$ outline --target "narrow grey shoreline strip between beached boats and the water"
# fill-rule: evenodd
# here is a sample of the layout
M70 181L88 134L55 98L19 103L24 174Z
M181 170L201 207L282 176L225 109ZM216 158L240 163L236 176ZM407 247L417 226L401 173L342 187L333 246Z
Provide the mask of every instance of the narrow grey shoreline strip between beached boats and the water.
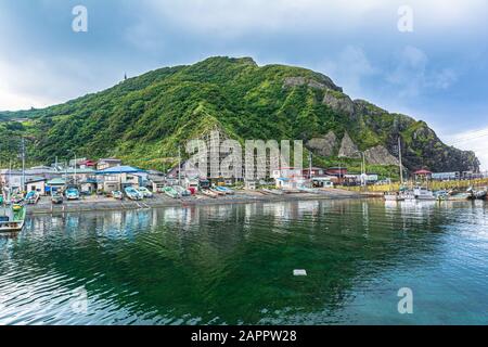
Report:
M90 213L90 211L111 211L111 210L133 210L150 209L162 207L188 207L188 206L206 206L206 205L224 205L224 204L249 204L249 203L273 203L290 201L307 201L307 200L349 200L349 198L368 198L370 194L359 194L344 190L328 190L321 194L310 193L292 193L284 195L262 194L259 192L239 192L235 195L219 196L209 198L206 196L190 196L182 198L170 198L166 195L156 194L152 198L143 201L115 201L106 197L88 197L80 201L63 202L61 205L52 205L50 201L41 201L37 205L27 205L27 215L50 215L60 213ZM46 197L43 197L46 200Z

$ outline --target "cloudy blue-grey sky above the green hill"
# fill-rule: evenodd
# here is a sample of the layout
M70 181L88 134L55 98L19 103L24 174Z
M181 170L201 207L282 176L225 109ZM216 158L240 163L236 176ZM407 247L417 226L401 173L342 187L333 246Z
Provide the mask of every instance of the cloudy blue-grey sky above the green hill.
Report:
M72 29L75 5L87 33ZM398 28L402 5L413 31ZM486 0L0 0L0 110L61 103L126 72L253 56L424 119L488 169L487 17Z

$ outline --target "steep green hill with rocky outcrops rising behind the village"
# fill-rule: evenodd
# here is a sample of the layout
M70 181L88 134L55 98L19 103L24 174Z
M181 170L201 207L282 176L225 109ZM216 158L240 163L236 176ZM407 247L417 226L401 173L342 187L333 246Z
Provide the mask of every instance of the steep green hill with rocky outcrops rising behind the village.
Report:
M479 166L474 153L447 146L424 121L352 101L322 74L258 66L248 57L165 67L61 105L0 113L0 162L16 158L25 136L30 163L52 163L74 150L162 168L175 160L179 143L215 127L239 140L301 139L317 165L337 165L341 155L358 167L359 150L370 167L386 170L400 136L408 169Z

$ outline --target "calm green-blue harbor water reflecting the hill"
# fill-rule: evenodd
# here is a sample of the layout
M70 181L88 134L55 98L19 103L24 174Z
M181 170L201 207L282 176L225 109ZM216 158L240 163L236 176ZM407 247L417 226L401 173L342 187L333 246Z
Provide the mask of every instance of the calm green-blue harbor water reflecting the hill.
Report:
M398 312L402 287L413 292L412 314ZM488 206L66 214L0 236L0 324L275 323L487 324Z

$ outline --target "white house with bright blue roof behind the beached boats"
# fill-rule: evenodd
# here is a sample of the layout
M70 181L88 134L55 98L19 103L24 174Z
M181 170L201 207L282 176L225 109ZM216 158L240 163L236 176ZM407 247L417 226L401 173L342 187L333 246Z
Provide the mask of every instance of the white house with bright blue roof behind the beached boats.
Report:
M147 172L131 166L115 166L97 171L99 189L104 192L120 191L126 187L145 187Z

